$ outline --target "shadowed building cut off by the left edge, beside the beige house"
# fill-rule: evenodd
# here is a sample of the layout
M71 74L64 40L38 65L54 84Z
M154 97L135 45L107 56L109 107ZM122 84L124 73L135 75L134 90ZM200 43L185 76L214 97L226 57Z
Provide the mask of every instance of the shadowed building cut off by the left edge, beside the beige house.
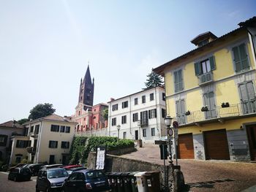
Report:
M15 120L0 124L0 161L8 162L11 152L11 137L24 135L24 128Z

